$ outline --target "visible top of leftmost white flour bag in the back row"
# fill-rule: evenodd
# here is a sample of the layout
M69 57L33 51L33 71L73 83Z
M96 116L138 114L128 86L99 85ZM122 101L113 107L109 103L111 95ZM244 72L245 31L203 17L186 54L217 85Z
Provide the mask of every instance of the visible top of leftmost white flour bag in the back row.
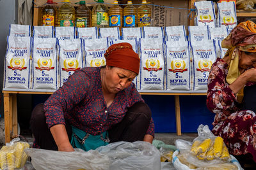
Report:
M10 24L9 36L30 36L30 25Z

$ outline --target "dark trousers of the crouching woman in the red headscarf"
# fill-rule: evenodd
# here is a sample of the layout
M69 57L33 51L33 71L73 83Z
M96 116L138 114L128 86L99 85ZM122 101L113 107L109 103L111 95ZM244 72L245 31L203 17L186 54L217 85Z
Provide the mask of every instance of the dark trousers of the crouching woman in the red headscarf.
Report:
M51 131L46 124L44 104L35 106L31 113L31 131L35 137L35 142L42 149L58 150L52 137ZM147 104L138 102L127 111L123 120L109 129L110 143L116 141L143 141L151 120L151 111ZM72 129L66 121L66 130L69 141L72 136Z

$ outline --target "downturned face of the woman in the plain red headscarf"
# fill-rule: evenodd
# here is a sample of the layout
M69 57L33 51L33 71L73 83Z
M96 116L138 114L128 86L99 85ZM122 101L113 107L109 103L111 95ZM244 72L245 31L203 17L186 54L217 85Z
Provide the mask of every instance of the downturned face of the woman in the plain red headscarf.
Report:
M131 85L132 80L136 77L136 73L119 67L106 66L106 75L104 85L110 93L117 93Z

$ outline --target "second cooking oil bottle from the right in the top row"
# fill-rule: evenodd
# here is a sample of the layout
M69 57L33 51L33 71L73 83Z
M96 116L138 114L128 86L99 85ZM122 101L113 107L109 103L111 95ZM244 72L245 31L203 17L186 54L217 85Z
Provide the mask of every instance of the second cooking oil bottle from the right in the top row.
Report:
M124 8L124 27L137 26L137 9L132 5L132 1L127 2Z

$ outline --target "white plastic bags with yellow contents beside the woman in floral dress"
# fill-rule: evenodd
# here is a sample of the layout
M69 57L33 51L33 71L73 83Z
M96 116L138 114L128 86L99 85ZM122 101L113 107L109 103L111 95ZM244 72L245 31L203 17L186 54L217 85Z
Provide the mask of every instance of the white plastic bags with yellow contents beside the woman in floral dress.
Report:
M228 153L223 139L214 136L207 125L198 127L198 137L193 143L178 139L173 153L176 169L242 169L235 157Z

